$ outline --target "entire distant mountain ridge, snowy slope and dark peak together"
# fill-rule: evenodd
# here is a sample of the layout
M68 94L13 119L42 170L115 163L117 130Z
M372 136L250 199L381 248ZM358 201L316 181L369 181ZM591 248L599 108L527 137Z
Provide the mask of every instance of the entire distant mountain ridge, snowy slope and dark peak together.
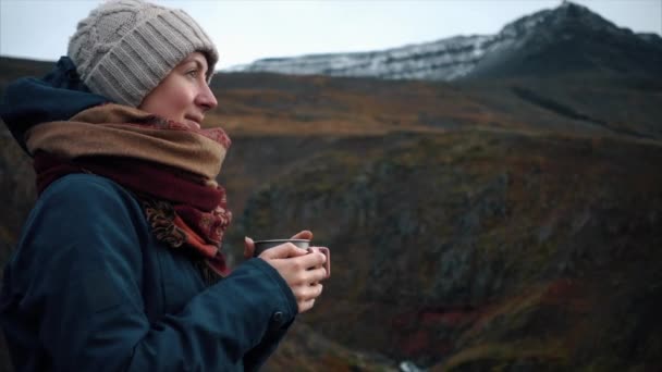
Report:
M634 34L566 1L497 35L456 36L383 51L270 58L235 72L454 80L561 72L662 75L662 38Z

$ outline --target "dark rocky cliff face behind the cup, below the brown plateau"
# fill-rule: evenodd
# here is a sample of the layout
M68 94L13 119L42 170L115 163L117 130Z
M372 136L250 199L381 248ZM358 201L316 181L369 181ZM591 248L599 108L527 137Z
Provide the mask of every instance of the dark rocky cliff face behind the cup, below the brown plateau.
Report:
M662 365L660 164L660 144L617 138L346 139L258 188L234 232L308 226L332 247L302 321L351 349L440 371L646 370Z

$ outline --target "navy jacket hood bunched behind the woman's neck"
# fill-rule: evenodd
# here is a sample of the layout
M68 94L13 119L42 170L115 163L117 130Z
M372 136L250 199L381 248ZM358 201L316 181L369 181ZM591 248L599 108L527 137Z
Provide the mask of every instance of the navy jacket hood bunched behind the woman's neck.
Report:
M91 94L81 80L76 66L62 57L42 78L22 77L11 83L0 103L0 117L27 152L25 133L35 125L65 121L108 98Z

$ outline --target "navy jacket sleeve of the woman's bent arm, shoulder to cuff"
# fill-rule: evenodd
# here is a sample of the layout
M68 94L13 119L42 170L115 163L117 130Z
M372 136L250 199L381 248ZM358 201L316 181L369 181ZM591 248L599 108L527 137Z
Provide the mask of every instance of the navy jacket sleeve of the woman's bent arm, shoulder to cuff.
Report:
M278 272L249 260L150 323L139 277L143 213L126 191L79 179L47 189L22 243L30 275L22 306L42 312L39 338L54 370L232 371L244 369L246 354L255 356L245 367L258 368L296 313Z

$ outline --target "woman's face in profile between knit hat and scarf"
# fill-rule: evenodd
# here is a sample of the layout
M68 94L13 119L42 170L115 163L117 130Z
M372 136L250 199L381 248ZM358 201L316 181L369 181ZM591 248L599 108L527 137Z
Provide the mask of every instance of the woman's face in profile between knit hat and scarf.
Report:
M149 92L138 109L200 128L205 112L218 102L207 85L207 59L193 52Z

